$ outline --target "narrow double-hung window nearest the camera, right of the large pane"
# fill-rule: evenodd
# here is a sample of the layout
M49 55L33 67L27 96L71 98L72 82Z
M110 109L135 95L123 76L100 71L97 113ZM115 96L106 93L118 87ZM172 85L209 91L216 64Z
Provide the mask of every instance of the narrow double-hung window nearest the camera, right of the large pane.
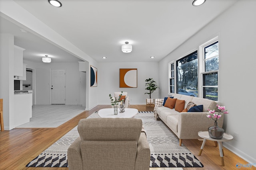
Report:
M209 43L201 46L204 54L202 98L218 101L219 43Z

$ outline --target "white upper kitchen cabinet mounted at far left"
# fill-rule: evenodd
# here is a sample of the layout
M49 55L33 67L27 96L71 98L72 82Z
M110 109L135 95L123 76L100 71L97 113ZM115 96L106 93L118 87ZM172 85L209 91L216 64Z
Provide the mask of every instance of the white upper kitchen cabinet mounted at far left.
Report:
M14 76L23 76L23 51L25 49L14 45ZM15 78L14 78L15 79Z

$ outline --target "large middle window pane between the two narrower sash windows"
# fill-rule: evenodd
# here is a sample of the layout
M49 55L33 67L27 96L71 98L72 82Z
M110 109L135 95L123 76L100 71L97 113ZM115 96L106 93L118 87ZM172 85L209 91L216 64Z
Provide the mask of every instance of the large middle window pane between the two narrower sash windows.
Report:
M187 96L197 96L197 91L187 92L198 87L198 57L197 51L176 61L176 91Z

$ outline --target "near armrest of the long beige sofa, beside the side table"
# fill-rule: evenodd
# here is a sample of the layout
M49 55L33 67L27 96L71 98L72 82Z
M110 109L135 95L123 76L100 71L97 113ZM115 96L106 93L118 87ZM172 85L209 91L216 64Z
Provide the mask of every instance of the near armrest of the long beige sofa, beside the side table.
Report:
M208 112L186 112L178 116L178 138L200 139L199 131L208 131L208 127L214 125L214 121L206 117ZM218 126L222 127L224 115L218 119Z

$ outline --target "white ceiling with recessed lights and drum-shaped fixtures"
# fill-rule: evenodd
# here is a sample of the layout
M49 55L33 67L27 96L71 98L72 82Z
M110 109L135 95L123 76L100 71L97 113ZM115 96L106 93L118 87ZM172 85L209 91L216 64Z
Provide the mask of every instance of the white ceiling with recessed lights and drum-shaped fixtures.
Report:
M98 62L150 62L166 57L237 0L206 0L198 7L193 0L59 1L61 8L48 0L14 0ZM0 18L0 33L14 35L14 44L26 49L24 60L42 62L49 55L52 62L81 61L21 28ZM131 53L122 53L125 41L132 45Z

